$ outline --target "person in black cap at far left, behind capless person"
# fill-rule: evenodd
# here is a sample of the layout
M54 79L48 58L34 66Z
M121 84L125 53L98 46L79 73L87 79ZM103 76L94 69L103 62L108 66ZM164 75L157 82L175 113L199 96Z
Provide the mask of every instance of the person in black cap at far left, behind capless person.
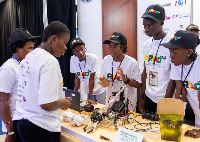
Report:
M2 131L7 132L6 141L14 141L12 118L15 111L19 64L33 50L34 40L40 36L32 36L27 29L17 28L9 37L9 49L12 58L0 67L0 116L3 120Z

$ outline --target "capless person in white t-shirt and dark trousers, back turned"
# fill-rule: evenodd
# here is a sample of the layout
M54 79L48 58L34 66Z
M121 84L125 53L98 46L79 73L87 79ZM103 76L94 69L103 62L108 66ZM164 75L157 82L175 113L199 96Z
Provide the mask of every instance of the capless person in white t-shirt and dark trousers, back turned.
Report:
M63 78L55 57L65 54L69 38L66 25L51 22L43 31L39 47L20 63L13 116L18 141L60 141L60 109L67 109L70 102L63 94Z

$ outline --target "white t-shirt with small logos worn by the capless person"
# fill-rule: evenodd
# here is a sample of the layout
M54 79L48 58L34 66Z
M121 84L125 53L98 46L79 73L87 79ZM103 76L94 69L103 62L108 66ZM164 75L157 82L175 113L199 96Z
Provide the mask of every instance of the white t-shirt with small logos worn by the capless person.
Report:
M40 105L63 99L62 92L63 80L57 59L36 48L20 63L13 120L28 119L48 131L60 132L60 109L46 111Z

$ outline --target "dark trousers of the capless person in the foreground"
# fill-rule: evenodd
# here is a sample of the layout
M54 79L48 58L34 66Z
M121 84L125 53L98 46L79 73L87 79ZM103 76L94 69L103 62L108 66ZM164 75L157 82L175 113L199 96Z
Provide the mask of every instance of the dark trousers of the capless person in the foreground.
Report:
M13 121L17 142L60 142L60 132L50 132L27 119Z

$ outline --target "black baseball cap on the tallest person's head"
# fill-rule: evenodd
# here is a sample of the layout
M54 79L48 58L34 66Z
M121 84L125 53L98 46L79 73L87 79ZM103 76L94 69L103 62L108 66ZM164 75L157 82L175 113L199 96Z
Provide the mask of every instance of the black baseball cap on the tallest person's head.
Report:
M165 20L165 9L159 4L150 5L145 13L142 15L142 18L150 18L157 23Z

